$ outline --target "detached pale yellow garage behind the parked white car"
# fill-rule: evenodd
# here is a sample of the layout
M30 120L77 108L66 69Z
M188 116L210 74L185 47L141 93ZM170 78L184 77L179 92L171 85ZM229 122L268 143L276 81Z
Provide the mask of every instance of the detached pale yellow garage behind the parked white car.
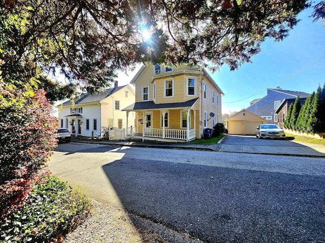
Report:
M255 135L256 127L265 124L265 119L245 109L225 121L229 134Z

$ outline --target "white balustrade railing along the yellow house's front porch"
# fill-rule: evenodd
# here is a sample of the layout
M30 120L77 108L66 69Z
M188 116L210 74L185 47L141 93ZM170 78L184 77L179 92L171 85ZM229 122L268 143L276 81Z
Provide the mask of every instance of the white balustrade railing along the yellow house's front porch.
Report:
M165 129L164 131L161 128L146 128L144 131L145 137L154 137L154 138L169 138L169 139L180 139L187 140L187 130L184 129ZM195 138L195 129L189 130L188 140Z

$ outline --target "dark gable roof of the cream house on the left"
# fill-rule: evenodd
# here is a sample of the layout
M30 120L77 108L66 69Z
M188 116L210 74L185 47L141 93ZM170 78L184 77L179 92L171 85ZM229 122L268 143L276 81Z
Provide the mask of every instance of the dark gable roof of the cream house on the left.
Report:
M87 104L87 103L94 103L94 102L100 102L101 100L104 100L105 98L111 96L112 94L120 91L121 89L127 87L128 85L120 86L120 87L114 87L110 89L106 89L105 91L102 91L98 94L83 94L81 97L74 102L74 104ZM131 88L132 89L132 88ZM71 100L68 100L64 102L62 105L72 105L73 102Z

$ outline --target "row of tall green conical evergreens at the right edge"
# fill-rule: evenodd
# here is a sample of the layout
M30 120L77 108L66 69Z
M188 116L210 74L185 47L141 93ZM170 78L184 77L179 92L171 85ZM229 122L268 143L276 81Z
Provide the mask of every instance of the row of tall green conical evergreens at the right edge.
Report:
M317 92L308 96L305 104L301 107L300 97L288 109L284 128L303 133L325 132L325 84L320 86Z

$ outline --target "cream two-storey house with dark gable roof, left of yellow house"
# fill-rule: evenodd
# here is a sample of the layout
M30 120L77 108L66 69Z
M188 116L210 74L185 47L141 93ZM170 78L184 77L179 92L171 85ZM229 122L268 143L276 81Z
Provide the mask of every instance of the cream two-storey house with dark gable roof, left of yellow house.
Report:
M106 128L126 129L135 126L135 112L126 120L123 108L135 102L135 91L130 85L106 89L98 94L83 94L57 106L58 126L76 136L103 137Z

